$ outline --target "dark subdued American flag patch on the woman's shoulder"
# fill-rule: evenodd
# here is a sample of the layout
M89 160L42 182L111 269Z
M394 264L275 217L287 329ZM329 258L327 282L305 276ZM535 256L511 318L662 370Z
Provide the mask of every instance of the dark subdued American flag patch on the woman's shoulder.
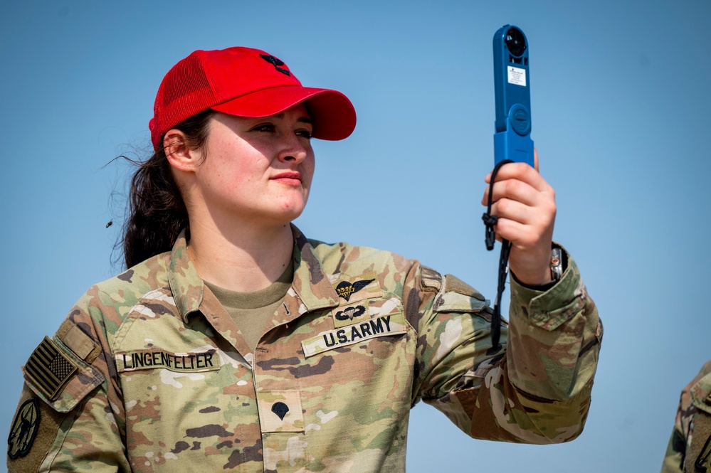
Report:
M25 365L25 376L49 400L56 398L65 383L77 371L78 368L73 361L48 337L44 337Z

